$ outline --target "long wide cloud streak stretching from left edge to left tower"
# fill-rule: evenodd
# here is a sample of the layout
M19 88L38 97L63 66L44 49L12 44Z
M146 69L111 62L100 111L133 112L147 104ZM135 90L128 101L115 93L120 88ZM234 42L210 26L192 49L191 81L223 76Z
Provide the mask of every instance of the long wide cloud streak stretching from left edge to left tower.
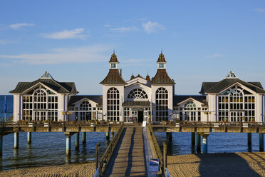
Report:
M46 54L0 55L0 60L11 59L11 63L22 64L76 64L108 61L110 56L105 54L112 47L106 45L80 46L73 48L53 49Z

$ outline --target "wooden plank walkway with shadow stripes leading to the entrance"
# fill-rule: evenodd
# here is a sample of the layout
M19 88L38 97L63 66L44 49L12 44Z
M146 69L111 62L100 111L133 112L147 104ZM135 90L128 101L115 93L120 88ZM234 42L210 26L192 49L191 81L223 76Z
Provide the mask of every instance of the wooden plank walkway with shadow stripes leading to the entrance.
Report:
M127 127L103 176L147 176L142 127Z

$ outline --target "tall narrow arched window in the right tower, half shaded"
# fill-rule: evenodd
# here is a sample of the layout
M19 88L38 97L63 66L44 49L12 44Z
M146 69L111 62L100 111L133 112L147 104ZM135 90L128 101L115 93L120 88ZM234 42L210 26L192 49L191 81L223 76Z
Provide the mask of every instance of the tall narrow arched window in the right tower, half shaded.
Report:
M160 87L155 93L156 121L168 120L168 92Z

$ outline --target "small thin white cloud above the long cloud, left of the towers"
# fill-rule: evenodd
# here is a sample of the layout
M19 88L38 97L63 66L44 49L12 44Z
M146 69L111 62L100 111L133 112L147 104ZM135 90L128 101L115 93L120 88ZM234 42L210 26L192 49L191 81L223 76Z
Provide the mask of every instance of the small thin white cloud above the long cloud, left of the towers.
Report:
M48 39L86 39L88 35L83 34L84 29L63 30L52 34L44 34Z

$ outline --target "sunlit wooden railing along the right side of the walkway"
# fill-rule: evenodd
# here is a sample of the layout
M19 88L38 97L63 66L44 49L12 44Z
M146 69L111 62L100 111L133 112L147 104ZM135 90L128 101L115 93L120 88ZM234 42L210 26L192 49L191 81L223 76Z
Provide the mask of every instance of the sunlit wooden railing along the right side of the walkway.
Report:
M152 155L153 155L153 157L159 159L160 173L163 174L164 173L164 159L163 159L163 155L162 155L160 146L157 143L157 138L155 137L155 133L152 130L152 126L150 124L148 124L147 128L148 128L148 131L147 131L148 132L148 138L150 140L152 148L154 148L152 151Z

